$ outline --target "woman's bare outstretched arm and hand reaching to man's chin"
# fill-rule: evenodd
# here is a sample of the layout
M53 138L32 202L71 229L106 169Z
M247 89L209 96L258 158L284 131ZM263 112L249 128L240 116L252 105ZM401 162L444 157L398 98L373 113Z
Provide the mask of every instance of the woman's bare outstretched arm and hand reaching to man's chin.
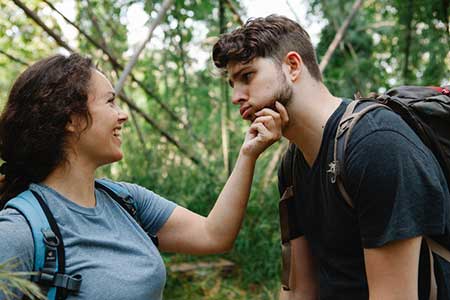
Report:
M263 109L250 126L236 165L207 217L183 207L175 208L158 232L162 251L212 254L230 250L244 218L256 159L281 138L288 122L285 108Z

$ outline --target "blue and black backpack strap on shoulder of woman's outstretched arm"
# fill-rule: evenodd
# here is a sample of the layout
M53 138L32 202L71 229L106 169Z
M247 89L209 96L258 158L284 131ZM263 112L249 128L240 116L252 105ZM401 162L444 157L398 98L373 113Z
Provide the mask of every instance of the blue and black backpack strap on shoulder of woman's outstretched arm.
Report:
M137 214L136 209L136 203L133 199L133 197L125 191L121 186L119 186L116 183L104 180L104 179L97 179L95 180L95 187L99 188L103 191L105 191L111 198L114 199L119 205L125 209L128 214L139 224L139 226L142 227L142 223L139 219L139 216ZM151 235L147 232L147 235L152 240L153 244L155 244L156 247L159 245L159 240L157 236Z

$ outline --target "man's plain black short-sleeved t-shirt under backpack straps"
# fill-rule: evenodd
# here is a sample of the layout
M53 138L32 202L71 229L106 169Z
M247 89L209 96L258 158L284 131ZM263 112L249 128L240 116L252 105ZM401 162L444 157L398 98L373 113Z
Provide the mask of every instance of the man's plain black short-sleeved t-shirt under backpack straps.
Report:
M289 203L290 237L304 235L319 268L321 299L368 299L363 248L420 235L434 237L450 249L450 196L434 155L395 113L377 109L355 126L345 158L345 182L354 208L331 183L336 128L348 101L327 121L322 144L310 168L291 145L293 166L279 169L282 194L292 184ZM289 174L289 175L288 175ZM422 247L420 299L427 298L429 265ZM450 264L436 257L438 299L450 299ZM427 298L428 299L428 298Z

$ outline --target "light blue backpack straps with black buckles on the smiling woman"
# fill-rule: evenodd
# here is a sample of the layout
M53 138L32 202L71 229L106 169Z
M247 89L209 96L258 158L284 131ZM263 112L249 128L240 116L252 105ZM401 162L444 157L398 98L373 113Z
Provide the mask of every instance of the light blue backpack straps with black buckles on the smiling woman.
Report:
M96 179L95 187L105 191L140 225L136 203L125 188L105 179ZM42 197L35 191L26 190L9 200L5 208L20 212L30 226L35 272L31 281L45 289L49 300L66 299L69 293L76 295L80 291L82 277L79 274L66 274L64 242L58 224ZM149 236L158 246L157 237Z

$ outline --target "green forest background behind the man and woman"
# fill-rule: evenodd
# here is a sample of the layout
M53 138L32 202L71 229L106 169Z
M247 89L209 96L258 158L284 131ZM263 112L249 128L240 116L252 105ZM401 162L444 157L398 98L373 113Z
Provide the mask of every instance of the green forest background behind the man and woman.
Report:
M448 0L288 1L305 2L306 16L325 24L315 46L334 95L450 84ZM143 22L133 24L134 15ZM245 15L239 0L0 0L0 105L33 62L55 53L90 56L121 91L129 115L124 159L98 176L137 183L207 215L249 126L231 103L211 50ZM306 30L313 25L308 17L297 21ZM287 145L282 140L258 159L230 253L163 254L165 299L278 299L277 167ZM226 272L216 266L223 259L232 263ZM181 263L194 270L178 270ZM0 288L7 288L5 276L11 274L2 270ZM17 280L11 284L23 284Z

